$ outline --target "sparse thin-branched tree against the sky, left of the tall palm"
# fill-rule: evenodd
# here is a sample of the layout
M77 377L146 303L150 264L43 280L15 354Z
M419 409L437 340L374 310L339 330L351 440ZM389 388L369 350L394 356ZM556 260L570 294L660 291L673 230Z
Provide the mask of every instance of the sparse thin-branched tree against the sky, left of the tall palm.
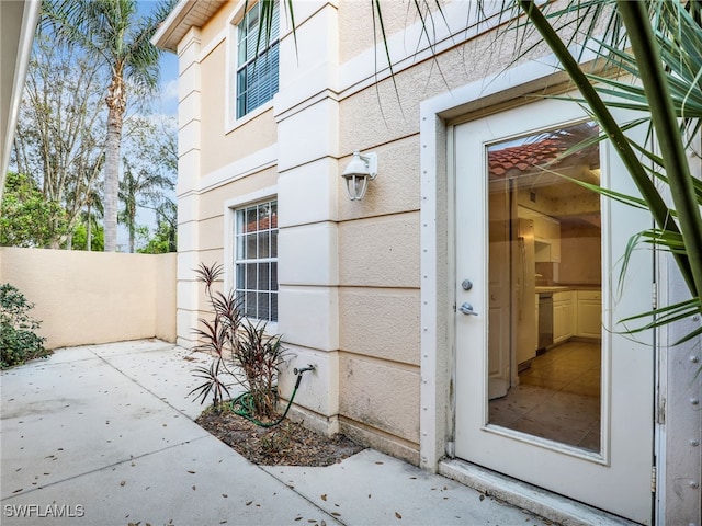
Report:
M36 35L20 106L14 163L32 174L47 203L60 205L43 218L58 248L78 222L100 178L104 159L99 128L104 125L105 79L76 47ZM55 209L54 205L50 205ZM68 228L63 227L68 221Z

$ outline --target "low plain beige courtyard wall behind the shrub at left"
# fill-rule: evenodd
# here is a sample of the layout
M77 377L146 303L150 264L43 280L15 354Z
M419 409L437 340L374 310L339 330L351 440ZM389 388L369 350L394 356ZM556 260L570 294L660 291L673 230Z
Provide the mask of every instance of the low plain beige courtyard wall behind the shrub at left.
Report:
M176 254L0 248L0 283L35 305L47 348L176 341Z

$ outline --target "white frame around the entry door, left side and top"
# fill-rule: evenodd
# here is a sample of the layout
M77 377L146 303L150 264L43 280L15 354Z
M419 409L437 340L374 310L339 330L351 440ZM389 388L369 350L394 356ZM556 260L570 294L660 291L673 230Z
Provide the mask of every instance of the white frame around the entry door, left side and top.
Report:
M460 115L477 118L503 111L531 93L565 91L567 77L555 64L553 56L528 62L424 101L420 107L420 466L431 471L454 453L454 227L453 192L448 187L453 167L446 123ZM665 444L656 442L657 458L665 458L664 449ZM663 483L658 481L658 491L665 492Z

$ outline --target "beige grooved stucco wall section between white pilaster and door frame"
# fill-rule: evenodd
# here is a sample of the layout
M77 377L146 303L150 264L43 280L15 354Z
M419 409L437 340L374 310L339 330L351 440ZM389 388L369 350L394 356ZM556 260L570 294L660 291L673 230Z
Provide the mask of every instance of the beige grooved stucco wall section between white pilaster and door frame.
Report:
M373 60L369 49L376 44L378 64L385 61L371 10L365 2L339 3L342 79L353 77L352 70L359 75L361 60ZM404 41L408 57L418 48L416 34L405 33L417 22L414 13L401 2L383 4L387 34L396 37L390 46L397 52ZM440 16L433 22L443 24ZM383 80L375 82L374 71L365 71L358 84L340 87L339 170L354 150L378 156L378 175L362 202L349 201L338 179L342 428L415 462L421 379L420 104L500 71L514 50L511 39L498 39L496 33L454 42L435 57L396 64L394 79L380 71Z

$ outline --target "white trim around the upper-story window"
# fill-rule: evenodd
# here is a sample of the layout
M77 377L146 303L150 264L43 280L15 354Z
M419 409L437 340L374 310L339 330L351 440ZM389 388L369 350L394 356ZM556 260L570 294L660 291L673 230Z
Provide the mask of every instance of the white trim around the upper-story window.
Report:
M227 19L226 26L226 36L225 36L225 87L224 87L224 108L225 108L225 119L224 119L224 133L229 134L235 129L244 126L250 121L253 121L259 115L268 112L273 107L273 101L275 100L275 95L264 104L261 104L259 107L250 111L242 117L237 118L237 104L236 104L236 91L237 91L237 66L235 58L237 57L237 46L238 46L238 28L237 25L244 20L244 8L247 5L248 0L240 1L237 7L234 9L229 18ZM249 2L251 4L252 2ZM280 45L280 44L279 44ZM280 66L279 66L280 68ZM280 75L280 72L279 72ZM230 96L231 93L235 93L235 96Z

